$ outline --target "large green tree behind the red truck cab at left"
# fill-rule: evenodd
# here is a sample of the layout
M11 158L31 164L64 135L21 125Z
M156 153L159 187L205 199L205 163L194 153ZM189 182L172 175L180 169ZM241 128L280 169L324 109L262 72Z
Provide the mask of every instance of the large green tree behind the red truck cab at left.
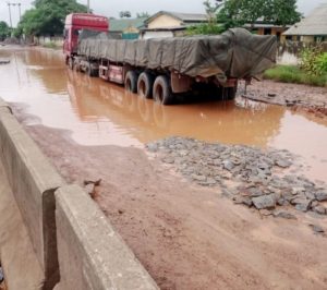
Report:
M19 28L26 35L62 34L65 16L73 12L87 12L76 0L36 0L34 9L22 16Z

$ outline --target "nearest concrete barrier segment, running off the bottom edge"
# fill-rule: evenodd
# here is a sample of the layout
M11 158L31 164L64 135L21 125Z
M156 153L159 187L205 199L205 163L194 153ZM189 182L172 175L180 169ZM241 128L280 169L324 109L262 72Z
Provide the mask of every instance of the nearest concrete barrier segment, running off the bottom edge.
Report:
M60 283L63 289L158 289L122 238L77 185L56 192Z

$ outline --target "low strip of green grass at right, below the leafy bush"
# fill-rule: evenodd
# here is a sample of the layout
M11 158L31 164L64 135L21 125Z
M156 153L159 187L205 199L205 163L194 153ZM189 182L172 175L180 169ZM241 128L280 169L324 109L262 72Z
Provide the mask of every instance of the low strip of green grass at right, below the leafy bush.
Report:
M327 73L323 75L311 75L295 65L276 65L264 73L264 78L282 83L327 86Z

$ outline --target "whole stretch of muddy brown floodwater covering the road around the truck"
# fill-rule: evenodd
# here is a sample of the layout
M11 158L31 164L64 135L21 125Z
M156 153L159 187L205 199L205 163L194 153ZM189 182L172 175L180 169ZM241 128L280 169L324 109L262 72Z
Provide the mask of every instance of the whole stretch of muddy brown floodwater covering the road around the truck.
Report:
M0 97L27 105L29 124L65 129L82 145L143 146L171 135L289 149L326 181L327 121L237 99L162 107L121 86L72 72L60 51L1 47Z

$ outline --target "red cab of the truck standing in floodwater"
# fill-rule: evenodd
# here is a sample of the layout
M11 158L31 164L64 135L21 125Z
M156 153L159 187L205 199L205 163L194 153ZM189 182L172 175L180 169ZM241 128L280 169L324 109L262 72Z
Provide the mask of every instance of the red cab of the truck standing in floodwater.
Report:
M72 13L66 15L63 33L63 53L65 55L66 63L77 52L78 35L82 29L108 32L108 19L88 13Z

